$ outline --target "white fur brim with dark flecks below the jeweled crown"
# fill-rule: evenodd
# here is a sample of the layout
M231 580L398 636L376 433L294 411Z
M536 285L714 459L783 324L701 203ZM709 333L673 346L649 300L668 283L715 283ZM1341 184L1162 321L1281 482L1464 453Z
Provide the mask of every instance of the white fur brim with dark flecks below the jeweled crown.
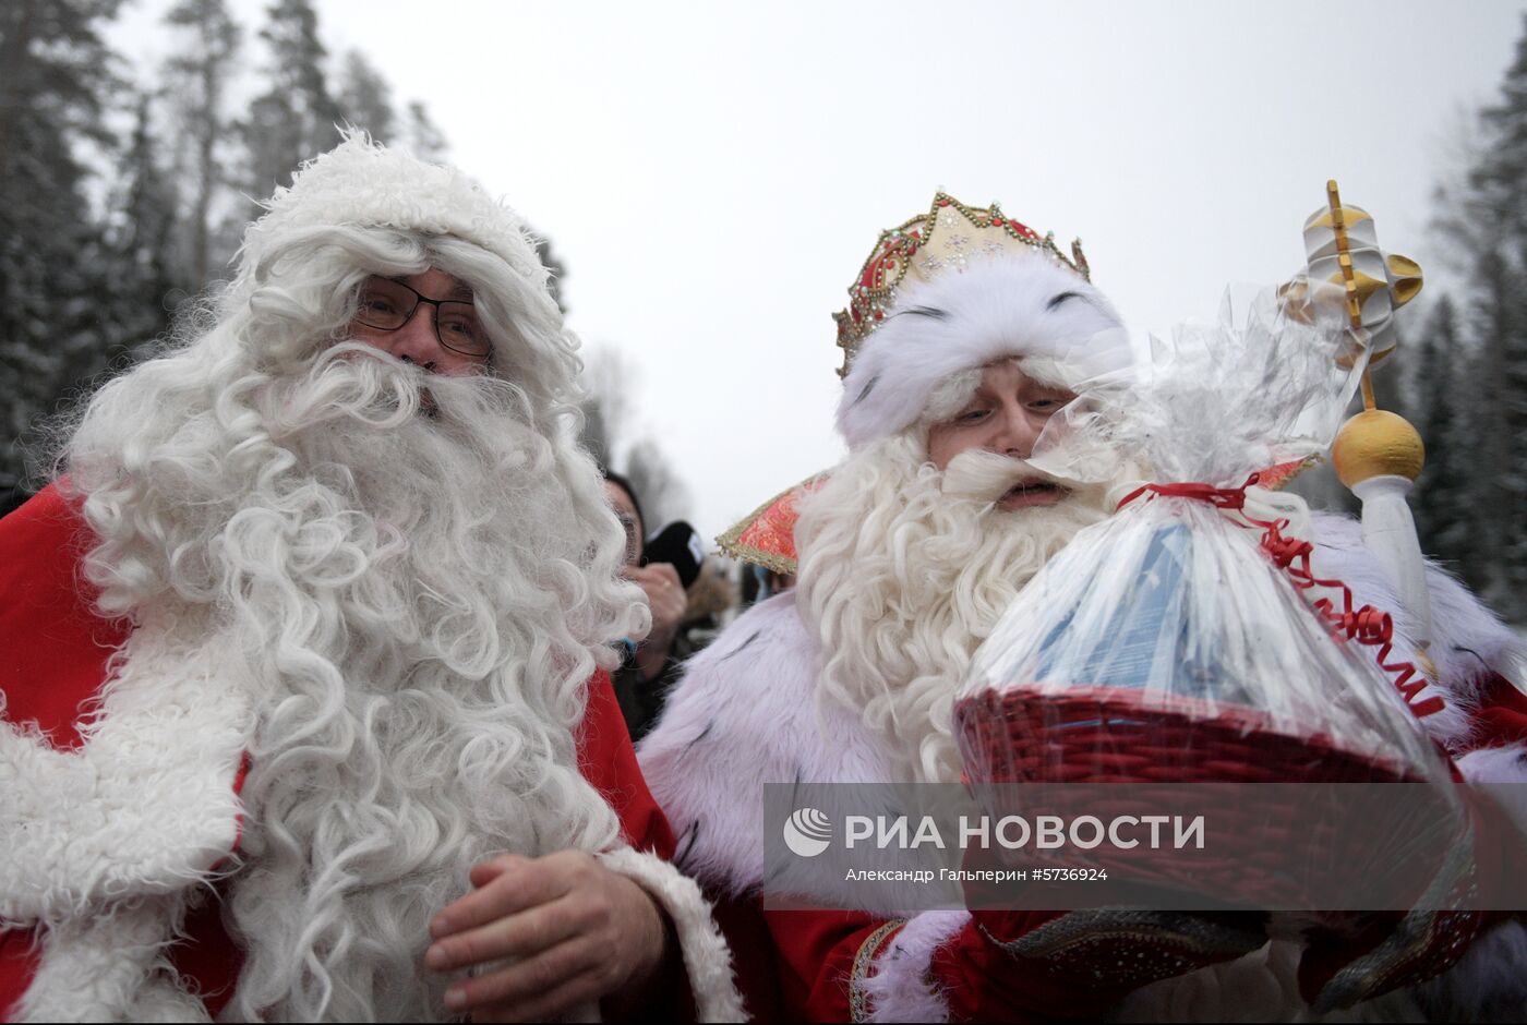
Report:
M1051 309L1067 292L1078 298ZM1130 347L1109 301L1070 270L1028 254L977 260L902 292L843 380L838 431L854 451L890 437L922 415L942 380L1005 356L1031 357L1031 376L1073 386L1127 365Z

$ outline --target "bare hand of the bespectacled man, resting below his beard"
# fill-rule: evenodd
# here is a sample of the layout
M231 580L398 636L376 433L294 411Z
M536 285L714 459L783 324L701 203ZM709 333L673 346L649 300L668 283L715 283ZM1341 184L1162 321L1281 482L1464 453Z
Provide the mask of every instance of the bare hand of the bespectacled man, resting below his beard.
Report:
M667 932L644 889L580 851L501 854L472 869L470 894L435 915L425 964L454 972L446 1008L473 1020L534 1022L635 990L663 964Z

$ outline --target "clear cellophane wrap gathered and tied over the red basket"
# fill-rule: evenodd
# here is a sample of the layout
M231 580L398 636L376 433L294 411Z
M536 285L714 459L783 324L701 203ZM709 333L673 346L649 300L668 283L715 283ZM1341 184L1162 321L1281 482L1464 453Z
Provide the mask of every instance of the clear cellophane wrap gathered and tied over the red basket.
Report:
M1031 461L1081 481L1133 461L1148 483L1235 490L1327 445L1359 370L1338 365L1341 344L1269 299L1228 304L1219 324L1179 328L1132 374L1084 388ZM1277 501L1228 512L1144 492L1078 533L973 658L954 716L970 782L1008 805L1020 797L1002 787L1031 782L1403 779L1451 800L1446 764L1374 651L1335 639L1263 550L1251 519L1307 530L1298 500Z

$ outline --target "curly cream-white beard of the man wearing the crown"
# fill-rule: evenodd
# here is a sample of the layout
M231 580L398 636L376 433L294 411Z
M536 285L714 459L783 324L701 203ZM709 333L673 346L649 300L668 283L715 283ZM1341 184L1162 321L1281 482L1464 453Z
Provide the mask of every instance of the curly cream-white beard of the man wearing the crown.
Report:
M971 655L1019 590L1104 518L1102 487L996 507L1023 463L962 454L939 472L912 432L851 457L802 503L797 588L823 652L818 694L861 715L899 779L954 782L951 718Z

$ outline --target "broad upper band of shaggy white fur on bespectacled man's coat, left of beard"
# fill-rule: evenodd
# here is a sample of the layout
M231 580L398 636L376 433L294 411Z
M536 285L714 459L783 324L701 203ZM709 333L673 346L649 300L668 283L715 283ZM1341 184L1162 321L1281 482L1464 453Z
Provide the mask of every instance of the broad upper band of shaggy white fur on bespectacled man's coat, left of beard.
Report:
M228 855L252 713L215 683L214 648L188 660L136 632L78 750L0 723L0 918L53 923L179 894Z

